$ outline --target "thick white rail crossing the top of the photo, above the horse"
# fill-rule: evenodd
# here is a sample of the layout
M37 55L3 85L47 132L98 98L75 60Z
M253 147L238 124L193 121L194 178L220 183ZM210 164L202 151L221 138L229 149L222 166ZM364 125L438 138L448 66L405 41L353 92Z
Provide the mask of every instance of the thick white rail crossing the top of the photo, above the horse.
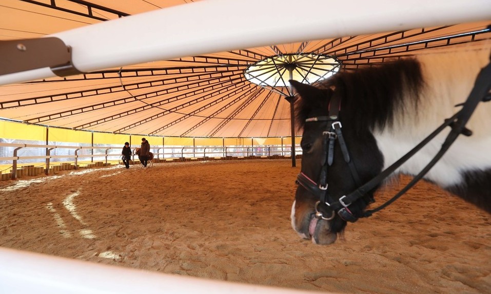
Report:
M294 22L285 22L294 17ZM491 19L489 0L209 0L127 16L51 36L82 72L142 62ZM0 85L47 78L27 71Z

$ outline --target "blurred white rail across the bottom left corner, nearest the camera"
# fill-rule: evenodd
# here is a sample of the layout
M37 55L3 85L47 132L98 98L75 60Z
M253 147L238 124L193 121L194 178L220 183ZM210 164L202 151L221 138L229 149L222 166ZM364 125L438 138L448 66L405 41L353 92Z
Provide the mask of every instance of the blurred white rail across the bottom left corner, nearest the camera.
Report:
M269 293L311 291L205 280L0 247L0 293Z

